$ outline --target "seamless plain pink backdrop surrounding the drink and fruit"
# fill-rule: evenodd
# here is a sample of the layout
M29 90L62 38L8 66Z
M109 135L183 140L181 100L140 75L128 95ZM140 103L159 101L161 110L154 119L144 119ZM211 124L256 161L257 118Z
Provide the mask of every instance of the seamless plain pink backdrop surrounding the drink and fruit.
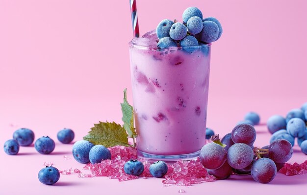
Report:
M189 6L199 7L204 17L216 17L224 29L221 39L212 44L211 55L207 124L215 132L230 132L248 111L258 112L265 123L269 116L285 115L307 101L307 1L138 0L141 34L162 19L180 21ZM0 145L19 127L33 129L36 138L49 135L54 140L58 130L68 127L79 140L94 122L121 122L124 88L132 102L131 38L128 0L0 0ZM256 144L267 145L266 126L256 130ZM22 147L24 155L18 156L0 152L0 194L25 189L32 194L110 194L111 190L119 194L140 188L136 194L177 194L179 189L197 194L221 185L228 186L221 191L251 194L257 193L250 191L256 187L281 193L306 190L306 175L281 174L269 185L247 177L190 188L162 187L155 178L119 183L77 175L62 175L57 187L41 184L37 173L44 162L59 169L83 167L63 159L71 155L71 147L57 142L53 155L40 155L33 147ZM291 163L307 159L299 147L294 149Z

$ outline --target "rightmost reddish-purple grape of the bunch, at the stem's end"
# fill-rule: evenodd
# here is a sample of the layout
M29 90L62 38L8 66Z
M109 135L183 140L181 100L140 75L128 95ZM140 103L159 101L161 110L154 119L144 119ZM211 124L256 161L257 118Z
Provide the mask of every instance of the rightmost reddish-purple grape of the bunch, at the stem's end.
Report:
M285 163L292 157L293 148L287 140L275 140L269 146L269 157L276 163Z

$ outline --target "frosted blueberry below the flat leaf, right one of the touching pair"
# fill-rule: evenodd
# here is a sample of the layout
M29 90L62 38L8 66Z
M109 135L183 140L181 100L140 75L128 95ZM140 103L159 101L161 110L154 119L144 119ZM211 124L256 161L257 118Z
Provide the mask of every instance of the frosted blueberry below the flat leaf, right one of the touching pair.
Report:
M101 161L105 159L111 160L111 152L102 145L96 145L91 148L89 158L92 164L101 163Z

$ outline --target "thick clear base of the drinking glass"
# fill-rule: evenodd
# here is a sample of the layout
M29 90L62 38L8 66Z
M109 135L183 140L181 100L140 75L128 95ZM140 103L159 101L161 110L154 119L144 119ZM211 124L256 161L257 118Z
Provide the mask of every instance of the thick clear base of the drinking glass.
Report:
M150 163L153 163L153 162L158 161L158 160L164 161L166 163L175 163L179 159L182 159L184 161L194 160L199 156L200 151L201 150L198 150L196 152L189 153L189 154L157 155L157 154L150 154L150 153L147 153L147 152L143 152L141 150L137 150L137 156L139 158L144 158L145 160L147 160Z

